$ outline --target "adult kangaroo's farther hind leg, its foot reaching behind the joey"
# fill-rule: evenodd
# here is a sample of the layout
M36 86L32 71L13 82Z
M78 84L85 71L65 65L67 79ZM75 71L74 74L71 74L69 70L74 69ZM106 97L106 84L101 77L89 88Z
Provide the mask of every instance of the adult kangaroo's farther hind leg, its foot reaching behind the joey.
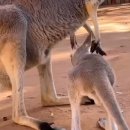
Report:
M56 94L50 59L45 65L38 66L38 72L40 77L42 105L55 106L69 104L67 96L58 97Z

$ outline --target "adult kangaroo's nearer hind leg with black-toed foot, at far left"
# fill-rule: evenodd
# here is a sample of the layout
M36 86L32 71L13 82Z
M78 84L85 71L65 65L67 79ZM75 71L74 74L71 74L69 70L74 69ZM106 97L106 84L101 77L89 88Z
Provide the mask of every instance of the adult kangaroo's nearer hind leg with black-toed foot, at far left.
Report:
M0 26L0 60L12 84L12 119L17 124L37 130L52 130L50 124L27 115L23 94L27 21L22 12L16 7L12 5L6 6L5 13L7 14L2 12L4 9L0 8L0 25L7 22L5 26Z

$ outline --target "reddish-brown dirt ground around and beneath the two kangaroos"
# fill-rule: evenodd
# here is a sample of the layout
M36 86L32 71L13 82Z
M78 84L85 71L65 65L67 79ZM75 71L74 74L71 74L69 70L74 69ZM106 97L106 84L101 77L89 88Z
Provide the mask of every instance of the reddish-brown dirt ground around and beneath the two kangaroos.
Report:
M108 54L105 58L113 66L117 76L116 91L120 92L117 94L118 101L130 126L130 4L101 8L99 10L99 25L102 46ZM82 43L87 35L83 28L80 28L76 34L79 43ZM59 95L67 95L67 73L71 69L70 52L69 38L58 44L53 51L53 72ZM0 130L31 130L31 128L12 122L12 102L9 95L9 93L0 95ZM43 121L55 122L57 126L70 130L70 106L42 107L36 68L25 73L25 103L29 115ZM99 117L105 116L106 113L102 107L81 106L83 130L98 130L96 122ZM3 121L3 117L7 117L8 120Z

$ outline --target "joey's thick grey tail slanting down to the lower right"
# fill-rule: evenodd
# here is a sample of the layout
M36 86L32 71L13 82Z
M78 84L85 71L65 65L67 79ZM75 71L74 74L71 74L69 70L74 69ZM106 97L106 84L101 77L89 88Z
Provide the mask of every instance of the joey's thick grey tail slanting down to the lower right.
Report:
M121 109L117 102L114 90L110 84L109 79L104 77L104 80L95 84L95 91L107 112L118 125L119 130L128 130L128 125L121 113Z

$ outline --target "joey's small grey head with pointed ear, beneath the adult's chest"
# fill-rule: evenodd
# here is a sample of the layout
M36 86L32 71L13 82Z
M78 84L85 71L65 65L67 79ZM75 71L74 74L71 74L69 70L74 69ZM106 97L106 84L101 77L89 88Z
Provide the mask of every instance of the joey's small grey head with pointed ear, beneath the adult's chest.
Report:
M91 47L92 35L90 34L85 42L77 47L71 54L71 63L73 66L78 64L80 60L87 54L90 54L90 47Z

